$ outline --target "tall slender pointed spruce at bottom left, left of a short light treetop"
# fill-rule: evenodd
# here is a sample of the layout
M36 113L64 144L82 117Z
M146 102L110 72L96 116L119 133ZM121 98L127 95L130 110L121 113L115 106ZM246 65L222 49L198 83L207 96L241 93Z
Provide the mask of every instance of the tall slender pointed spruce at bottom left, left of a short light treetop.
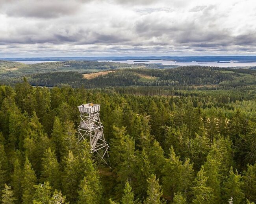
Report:
M22 200L24 204L32 203L33 194L35 193L35 184L37 184L35 171L32 169L28 158L26 158L23 169L23 179L21 181Z

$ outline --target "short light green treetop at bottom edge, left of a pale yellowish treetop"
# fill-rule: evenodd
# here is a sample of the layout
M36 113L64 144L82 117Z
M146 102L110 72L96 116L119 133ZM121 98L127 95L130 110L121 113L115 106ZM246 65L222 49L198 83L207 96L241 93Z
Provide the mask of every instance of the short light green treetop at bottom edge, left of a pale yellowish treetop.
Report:
M34 186L35 194L33 195L33 204L38 203L49 203L51 198L51 190L49 182L45 182L44 184L38 184Z

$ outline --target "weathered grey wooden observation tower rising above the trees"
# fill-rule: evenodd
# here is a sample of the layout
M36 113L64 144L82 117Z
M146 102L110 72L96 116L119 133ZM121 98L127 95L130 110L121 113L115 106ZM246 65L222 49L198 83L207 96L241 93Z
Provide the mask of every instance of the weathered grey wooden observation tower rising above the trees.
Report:
M108 155L108 143L103 134L100 122L100 105L87 103L78 106L80 111L80 125L78 126L78 142L89 138L91 153L108 165L104 157Z

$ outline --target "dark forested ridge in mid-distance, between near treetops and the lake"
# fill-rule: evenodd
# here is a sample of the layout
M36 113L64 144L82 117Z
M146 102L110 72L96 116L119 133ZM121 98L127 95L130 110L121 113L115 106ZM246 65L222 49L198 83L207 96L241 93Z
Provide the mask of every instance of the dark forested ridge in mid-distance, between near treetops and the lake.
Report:
M115 70L115 69L114 69ZM104 72L108 73L108 70ZM106 88L116 86L173 86L174 88L230 89L256 86L256 70L230 69L207 66L183 66L171 69L126 68L85 79L86 72L50 72L27 75L33 86L63 86L74 88ZM8 78L4 83L15 84L23 77Z

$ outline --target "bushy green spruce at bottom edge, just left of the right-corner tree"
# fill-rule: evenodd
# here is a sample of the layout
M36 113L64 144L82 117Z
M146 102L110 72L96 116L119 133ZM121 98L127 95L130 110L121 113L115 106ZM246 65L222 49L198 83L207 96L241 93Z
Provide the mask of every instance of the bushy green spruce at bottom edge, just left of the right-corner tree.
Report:
M223 184L223 198L228 200L232 197L234 204L241 203L245 195L242 191L243 182L241 181L241 175L237 173L237 170L233 171L233 168L230 167L228 179Z

